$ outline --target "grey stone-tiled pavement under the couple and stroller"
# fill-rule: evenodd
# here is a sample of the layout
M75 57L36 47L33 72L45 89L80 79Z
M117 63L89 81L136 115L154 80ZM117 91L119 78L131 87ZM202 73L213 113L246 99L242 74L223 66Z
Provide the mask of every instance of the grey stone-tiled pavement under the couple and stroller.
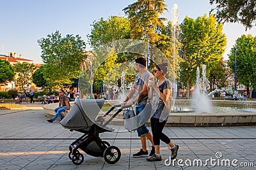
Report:
M179 164L175 161L174 165L171 162L170 166L166 166L165 163L170 163L166 160L170 157L170 151L163 142L162 161L148 162L145 158L133 158L132 154L141 148L140 139L136 132L117 132L124 131L124 127L120 125L114 126L116 132L100 134L102 139L120 148L122 156L116 164L108 164L102 157L92 157L82 152L84 162L76 166L68 159L68 146L82 134L68 131L58 122L48 123L40 103L26 106L27 110L0 110L0 169L149 170L256 167L255 126L165 127L164 133L180 146L177 156L180 159ZM200 161L205 166L200 166ZM234 166L232 161L239 166ZM250 167L241 167L242 164Z

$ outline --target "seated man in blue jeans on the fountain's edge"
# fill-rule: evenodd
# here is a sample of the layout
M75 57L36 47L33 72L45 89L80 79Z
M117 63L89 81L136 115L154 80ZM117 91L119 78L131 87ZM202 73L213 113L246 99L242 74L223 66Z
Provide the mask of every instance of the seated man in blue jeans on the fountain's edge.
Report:
M48 119L47 121L52 123L56 120L57 117L60 117L60 120L62 120L64 117L63 115L61 115L61 111L68 112L68 110L70 110L70 103L69 103L68 97L64 94L64 90L60 89L59 90L59 107L54 110L56 113L54 117L51 119Z

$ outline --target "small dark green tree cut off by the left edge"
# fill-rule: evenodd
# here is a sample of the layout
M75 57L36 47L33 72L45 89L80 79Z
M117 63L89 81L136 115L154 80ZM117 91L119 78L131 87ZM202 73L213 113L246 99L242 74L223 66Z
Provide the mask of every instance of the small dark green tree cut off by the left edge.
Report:
M14 69L6 60L0 60L0 83L12 81L14 78Z

